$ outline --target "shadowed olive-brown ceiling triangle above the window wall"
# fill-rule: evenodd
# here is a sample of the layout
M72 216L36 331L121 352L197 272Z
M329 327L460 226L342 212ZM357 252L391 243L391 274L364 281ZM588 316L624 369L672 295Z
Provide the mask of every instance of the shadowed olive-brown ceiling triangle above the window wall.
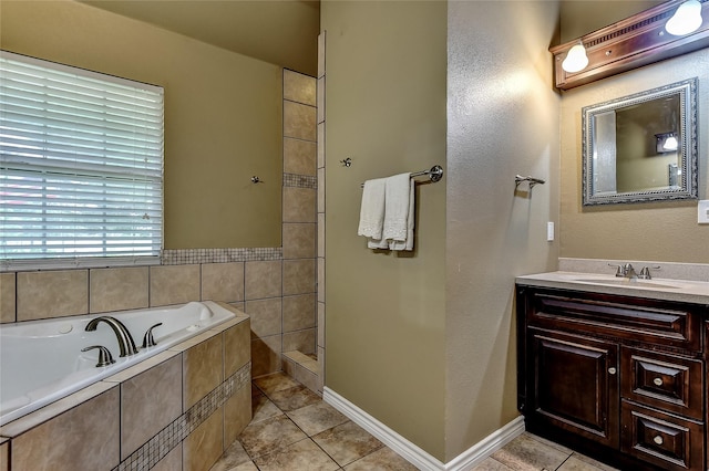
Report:
M297 72L317 74L319 0L79 1Z

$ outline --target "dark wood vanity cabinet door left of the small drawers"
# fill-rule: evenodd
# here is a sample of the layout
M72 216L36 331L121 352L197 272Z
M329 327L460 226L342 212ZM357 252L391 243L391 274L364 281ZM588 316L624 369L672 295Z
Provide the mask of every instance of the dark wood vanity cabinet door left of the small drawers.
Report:
M530 419L618 447L618 345L535 329L530 343Z

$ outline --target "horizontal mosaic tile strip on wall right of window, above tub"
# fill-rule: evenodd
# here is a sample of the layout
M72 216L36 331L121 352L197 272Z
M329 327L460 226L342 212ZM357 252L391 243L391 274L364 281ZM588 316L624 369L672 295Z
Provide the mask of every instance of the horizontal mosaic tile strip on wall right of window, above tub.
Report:
M247 249L174 249L163 250L163 265L184 265L192 263L263 262L282 260L280 247Z

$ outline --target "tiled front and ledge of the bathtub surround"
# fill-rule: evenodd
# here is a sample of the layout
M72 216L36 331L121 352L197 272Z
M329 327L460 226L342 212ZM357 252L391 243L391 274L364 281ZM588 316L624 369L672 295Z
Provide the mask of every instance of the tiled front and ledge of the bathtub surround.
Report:
M208 470L251 419L250 320L220 305L237 317L1 427L10 470Z

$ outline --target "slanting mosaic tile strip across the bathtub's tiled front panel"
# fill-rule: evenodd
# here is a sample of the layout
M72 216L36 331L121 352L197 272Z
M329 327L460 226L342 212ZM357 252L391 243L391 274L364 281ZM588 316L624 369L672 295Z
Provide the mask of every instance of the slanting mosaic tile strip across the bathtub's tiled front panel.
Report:
M167 427L158 431L133 454L123 460L113 471L147 471L165 458L189 433L202 425L212 414L234 396L234 393L247 387L251 381L251 363L247 363L224 383L207 394L199 402Z

